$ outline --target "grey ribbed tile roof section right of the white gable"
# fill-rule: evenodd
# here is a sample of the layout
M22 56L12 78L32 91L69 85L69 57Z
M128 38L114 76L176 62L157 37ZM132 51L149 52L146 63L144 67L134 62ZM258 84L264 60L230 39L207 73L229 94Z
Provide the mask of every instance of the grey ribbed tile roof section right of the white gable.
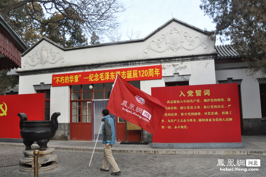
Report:
M218 52L217 58L237 58L239 53L233 49L233 47L228 45L215 45L215 49Z

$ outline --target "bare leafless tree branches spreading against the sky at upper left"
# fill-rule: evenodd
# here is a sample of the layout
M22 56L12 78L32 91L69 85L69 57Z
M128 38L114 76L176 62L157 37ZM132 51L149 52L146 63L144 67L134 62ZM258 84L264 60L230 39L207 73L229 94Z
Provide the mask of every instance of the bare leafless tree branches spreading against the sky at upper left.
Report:
M39 11L33 2L38 3L46 15L59 13L63 18L56 21L36 18L35 14ZM29 3L32 9L28 8ZM113 34L120 26L117 14L126 10L118 0L22 0L5 6L1 14L5 17L10 11L22 6L25 6L30 22L46 25L65 20L75 21L82 24L82 29L87 35L91 35L93 31L100 35Z

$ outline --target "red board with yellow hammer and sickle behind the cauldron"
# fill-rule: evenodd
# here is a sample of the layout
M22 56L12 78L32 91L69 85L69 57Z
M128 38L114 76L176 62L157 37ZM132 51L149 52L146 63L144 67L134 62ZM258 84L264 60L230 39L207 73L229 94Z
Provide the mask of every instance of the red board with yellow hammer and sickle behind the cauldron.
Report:
M44 120L44 94L0 96L0 138L21 138L18 113L28 120Z

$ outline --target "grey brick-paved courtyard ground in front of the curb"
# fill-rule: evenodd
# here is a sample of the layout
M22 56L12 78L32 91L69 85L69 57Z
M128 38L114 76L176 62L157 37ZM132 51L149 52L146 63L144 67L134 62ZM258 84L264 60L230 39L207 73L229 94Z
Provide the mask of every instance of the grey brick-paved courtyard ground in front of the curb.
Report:
M22 157L22 148L0 147L0 166L18 163ZM111 176L110 172L100 171L102 153L94 153L91 167L89 167L91 152L63 151L54 152L58 156L58 168L49 172L39 173L40 177L54 176ZM155 177L155 176L266 176L266 156L264 155L147 155L147 154L121 154L114 153L114 158L121 170L122 176ZM224 165L229 159L233 164L237 160L260 159L260 167L240 166L242 169L258 171L220 171L218 159L224 160ZM245 163L246 165L246 163ZM233 169L236 166L233 166ZM26 177L27 173L20 172L19 166L0 168L0 176ZM232 168L232 166L230 166ZM111 168L110 168L111 170ZM33 176L33 174L30 174Z

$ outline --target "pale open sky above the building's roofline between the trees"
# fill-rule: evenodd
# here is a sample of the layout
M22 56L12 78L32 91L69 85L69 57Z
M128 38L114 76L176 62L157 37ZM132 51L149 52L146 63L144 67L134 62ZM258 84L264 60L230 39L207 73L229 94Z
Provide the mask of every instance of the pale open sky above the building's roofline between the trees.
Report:
M119 14L121 22L120 32L122 40L129 40L126 37L127 29L140 31L141 37L152 33L158 27L168 22L172 16L197 28L208 31L215 29L207 15L204 16L200 9L200 0L121 0L127 8L125 12ZM217 38L217 37L216 37ZM110 42L109 39L104 39ZM220 45L220 41L215 42Z

